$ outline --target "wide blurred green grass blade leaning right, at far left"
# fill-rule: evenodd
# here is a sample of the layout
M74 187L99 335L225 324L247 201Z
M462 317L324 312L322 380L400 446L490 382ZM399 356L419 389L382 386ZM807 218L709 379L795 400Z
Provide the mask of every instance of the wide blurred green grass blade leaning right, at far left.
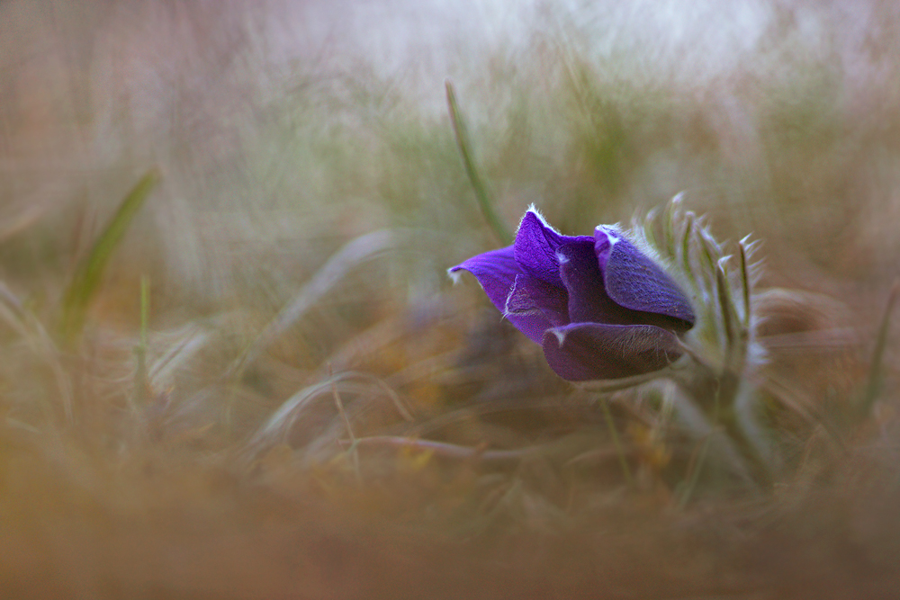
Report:
M103 233L94 242L91 251L78 266L69 282L62 300L62 314L59 321L59 336L64 347L76 342L85 326L85 315L94 294L103 280L103 272L112 254L119 247L134 216L143 206L149 193L156 186L159 175L153 169L140 178L130 193L125 196Z

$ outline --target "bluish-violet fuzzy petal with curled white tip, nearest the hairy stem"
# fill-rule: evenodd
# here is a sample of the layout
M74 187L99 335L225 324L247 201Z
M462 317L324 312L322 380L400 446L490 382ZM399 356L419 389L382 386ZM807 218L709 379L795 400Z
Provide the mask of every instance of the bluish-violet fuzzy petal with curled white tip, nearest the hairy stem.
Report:
M664 315L680 321L673 328L683 333L696 318L678 283L638 250L615 228L599 226L595 251L609 297L626 309Z

